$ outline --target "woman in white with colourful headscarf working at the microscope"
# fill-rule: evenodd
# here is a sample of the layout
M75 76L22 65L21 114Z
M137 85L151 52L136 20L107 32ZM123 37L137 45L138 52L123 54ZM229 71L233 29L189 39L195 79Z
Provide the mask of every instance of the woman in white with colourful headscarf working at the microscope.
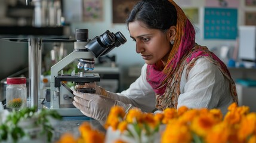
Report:
M155 108L220 108L238 103L225 64L195 43L195 29L171 0L138 2L127 19L136 52L145 60L141 76L118 94L95 86L95 94L74 92L73 104L85 116L104 122L113 105L150 112Z

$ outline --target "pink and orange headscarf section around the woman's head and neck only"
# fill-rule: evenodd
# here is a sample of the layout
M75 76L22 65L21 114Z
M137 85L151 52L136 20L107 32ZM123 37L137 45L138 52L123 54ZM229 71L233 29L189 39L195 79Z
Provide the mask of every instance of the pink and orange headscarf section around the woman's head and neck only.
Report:
M195 29L192 23L190 23L183 10L175 2L170 2L177 10L175 43L172 46L172 51L169 54L169 59L164 70L159 70L159 63L161 61L158 64L147 66L147 81L153 87L156 94L163 94L165 92L167 82L170 79L169 75L174 74L182 58L186 57L193 46L195 46Z

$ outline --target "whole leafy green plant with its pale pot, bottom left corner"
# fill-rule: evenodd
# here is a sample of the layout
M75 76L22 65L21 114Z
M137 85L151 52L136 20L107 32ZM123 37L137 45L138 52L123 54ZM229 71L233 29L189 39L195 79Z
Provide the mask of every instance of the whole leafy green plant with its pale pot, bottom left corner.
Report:
M0 142L51 142L52 120L61 120L55 110L36 110L36 107L13 110L0 122Z

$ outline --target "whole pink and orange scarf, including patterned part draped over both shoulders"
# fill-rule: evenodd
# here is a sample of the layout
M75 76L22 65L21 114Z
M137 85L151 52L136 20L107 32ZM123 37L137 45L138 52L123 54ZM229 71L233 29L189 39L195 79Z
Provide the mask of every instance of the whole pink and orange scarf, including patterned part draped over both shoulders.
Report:
M188 73L195 61L200 57L205 57L215 63L224 76L230 80L230 91L233 100L238 102L235 83L230 77L226 65L206 47L196 45L195 29L192 23L174 1L169 0L169 2L175 6L178 18L174 45L164 70L159 70L160 65L162 65L161 61L147 66L147 81L156 92L156 108L159 110L164 110L167 107L177 108L182 71L188 65Z

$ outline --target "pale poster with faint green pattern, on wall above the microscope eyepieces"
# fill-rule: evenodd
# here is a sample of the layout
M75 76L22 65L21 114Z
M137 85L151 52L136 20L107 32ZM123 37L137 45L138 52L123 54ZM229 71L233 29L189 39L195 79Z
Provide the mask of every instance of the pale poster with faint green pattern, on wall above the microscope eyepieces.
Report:
M103 0L83 0L84 21L103 21Z

